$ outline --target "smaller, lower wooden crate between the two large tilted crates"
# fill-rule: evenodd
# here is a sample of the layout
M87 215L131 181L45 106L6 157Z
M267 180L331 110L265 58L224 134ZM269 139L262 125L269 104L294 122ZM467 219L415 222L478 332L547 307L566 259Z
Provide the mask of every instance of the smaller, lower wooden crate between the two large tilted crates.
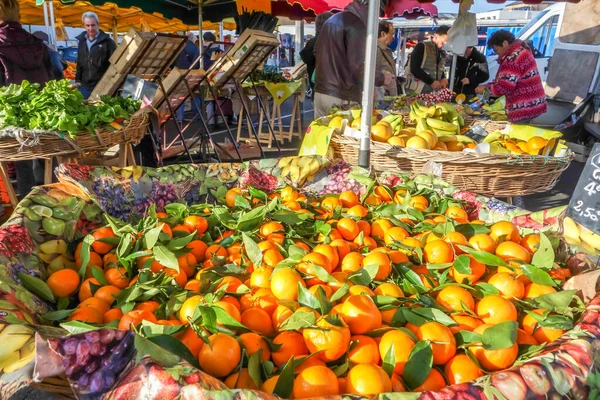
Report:
M174 109L177 109L183 100L189 96L189 91L185 81L187 81L189 87L193 90L206 76L206 72L203 69L193 69L189 71L184 80L184 75L186 72L187 70L181 70L175 67L163 80L163 86L165 87L166 92L169 93L168 101L171 103L171 107ZM169 113L169 107L165 101L165 96L160 86L156 91L156 95L154 95L152 106L159 110L160 115Z

